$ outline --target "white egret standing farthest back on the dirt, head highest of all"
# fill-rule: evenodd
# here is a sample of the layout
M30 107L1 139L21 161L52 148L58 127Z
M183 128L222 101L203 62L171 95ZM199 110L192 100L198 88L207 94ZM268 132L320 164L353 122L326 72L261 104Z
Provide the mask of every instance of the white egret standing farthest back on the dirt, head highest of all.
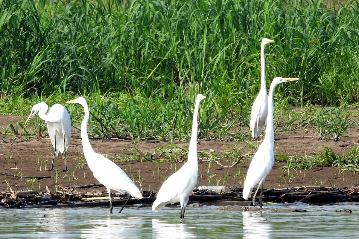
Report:
M250 128L252 131L252 138L257 139L257 146L259 135L261 134L268 115L268 95L266 89L266 63L264 60L264 46L267 43L274 42L274 40L263 38L261 44L261 90L259 91L255 101L253 102L251 111Z

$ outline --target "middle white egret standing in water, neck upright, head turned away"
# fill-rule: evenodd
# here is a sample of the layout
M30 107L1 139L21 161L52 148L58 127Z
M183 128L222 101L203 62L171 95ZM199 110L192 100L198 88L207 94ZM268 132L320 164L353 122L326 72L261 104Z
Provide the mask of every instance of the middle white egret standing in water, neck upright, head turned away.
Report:
M157 193L157 199L153 202L152 210L158 212L167 204L181 203L181 216L185 218L185 210L190 199L190 194L197 183L198 156L197 156L197 130L198 110L201 100L206 96L198 94L192 119L192 134L188 148L187 162L173 175L169 176Z

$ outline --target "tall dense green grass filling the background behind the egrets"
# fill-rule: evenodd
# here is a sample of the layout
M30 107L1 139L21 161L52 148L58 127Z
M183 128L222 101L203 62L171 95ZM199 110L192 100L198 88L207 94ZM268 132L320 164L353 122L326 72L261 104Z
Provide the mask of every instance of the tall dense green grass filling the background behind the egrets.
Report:
M83 95L89 135L184 140L201 93L199 138L243 140L263 37L275 40L265 51L267 84L301 78L279 87L276 112L358 104L358 13L356 1L327 8L320 0L0 0L0 114L27 116L37 102L65 105ZM79 127L81 109L65 107ZM286 117L278 130L309 121L304 113ZM347 122L323 137L342 137ZM36 123L27 137L43 132ZM18 135L22 127L1 131Z

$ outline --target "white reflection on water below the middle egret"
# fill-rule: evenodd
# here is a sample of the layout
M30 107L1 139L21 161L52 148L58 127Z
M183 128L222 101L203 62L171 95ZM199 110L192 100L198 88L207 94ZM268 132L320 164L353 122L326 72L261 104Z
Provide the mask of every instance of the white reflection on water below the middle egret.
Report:
M169 223L152 219L153 238L196 238L196 231L181 220L180 223Z

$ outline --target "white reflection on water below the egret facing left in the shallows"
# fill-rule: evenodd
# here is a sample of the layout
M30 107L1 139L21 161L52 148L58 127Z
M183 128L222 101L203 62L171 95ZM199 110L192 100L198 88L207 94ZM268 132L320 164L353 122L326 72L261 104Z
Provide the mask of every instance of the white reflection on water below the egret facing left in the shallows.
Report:
M112 238L115 234L126 236L139 235L143 221L140 215L118 218L108 215L103 218L88 221L87 224L90 225L90 228L81 230L81 237L105 238L108 236L108 238Z

